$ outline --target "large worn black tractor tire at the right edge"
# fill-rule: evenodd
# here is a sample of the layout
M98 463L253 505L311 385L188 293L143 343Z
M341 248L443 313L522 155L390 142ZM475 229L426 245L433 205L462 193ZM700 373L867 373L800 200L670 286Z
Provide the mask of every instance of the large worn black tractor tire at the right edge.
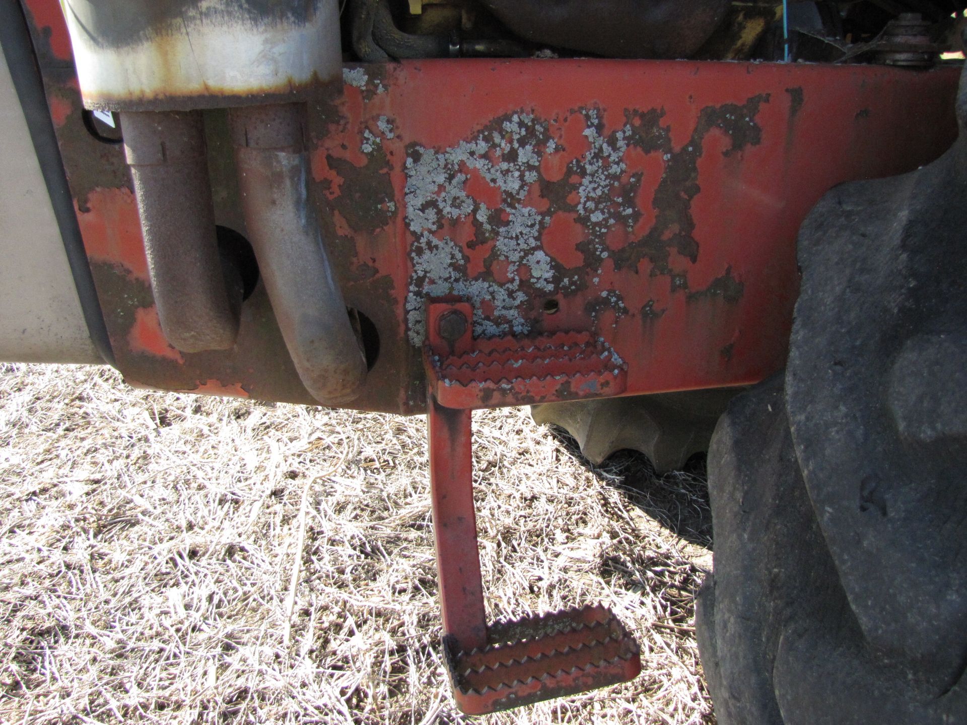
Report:
M943 157L806 218L786 371L718 422L720 725L967 723L965 86Z

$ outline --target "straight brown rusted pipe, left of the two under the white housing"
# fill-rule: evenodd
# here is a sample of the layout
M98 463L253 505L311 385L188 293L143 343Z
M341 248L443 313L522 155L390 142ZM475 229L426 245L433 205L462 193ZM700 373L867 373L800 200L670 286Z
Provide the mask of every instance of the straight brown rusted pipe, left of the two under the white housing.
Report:
M181 352L226 350L242 281L222 271L201 114L124 113L122 128L161 330Z

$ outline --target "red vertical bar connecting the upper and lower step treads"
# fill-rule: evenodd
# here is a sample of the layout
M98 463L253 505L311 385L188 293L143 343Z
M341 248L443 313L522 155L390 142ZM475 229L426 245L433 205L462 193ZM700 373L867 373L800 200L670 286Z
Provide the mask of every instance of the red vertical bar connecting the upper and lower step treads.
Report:
M469 410L427 401L429 486L443 631L469 652L486 644L484 584L477 550Z

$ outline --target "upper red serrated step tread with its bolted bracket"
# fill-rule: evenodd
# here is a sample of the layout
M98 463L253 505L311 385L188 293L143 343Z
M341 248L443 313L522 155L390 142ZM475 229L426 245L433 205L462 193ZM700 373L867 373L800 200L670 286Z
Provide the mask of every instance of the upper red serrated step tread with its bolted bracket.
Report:
M426 378L430 393L443 405L527 405L625 390L627 363L591 333L474 339L471 315L467 303L431 302L427 307Z

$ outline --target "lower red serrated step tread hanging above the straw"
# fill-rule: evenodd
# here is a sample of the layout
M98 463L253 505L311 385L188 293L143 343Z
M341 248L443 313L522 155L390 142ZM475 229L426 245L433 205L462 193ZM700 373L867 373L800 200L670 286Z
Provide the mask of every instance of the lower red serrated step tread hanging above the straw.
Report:
M492 625L487 644L448 652L457 707L484 714L634 679L638 645L604 607Z

